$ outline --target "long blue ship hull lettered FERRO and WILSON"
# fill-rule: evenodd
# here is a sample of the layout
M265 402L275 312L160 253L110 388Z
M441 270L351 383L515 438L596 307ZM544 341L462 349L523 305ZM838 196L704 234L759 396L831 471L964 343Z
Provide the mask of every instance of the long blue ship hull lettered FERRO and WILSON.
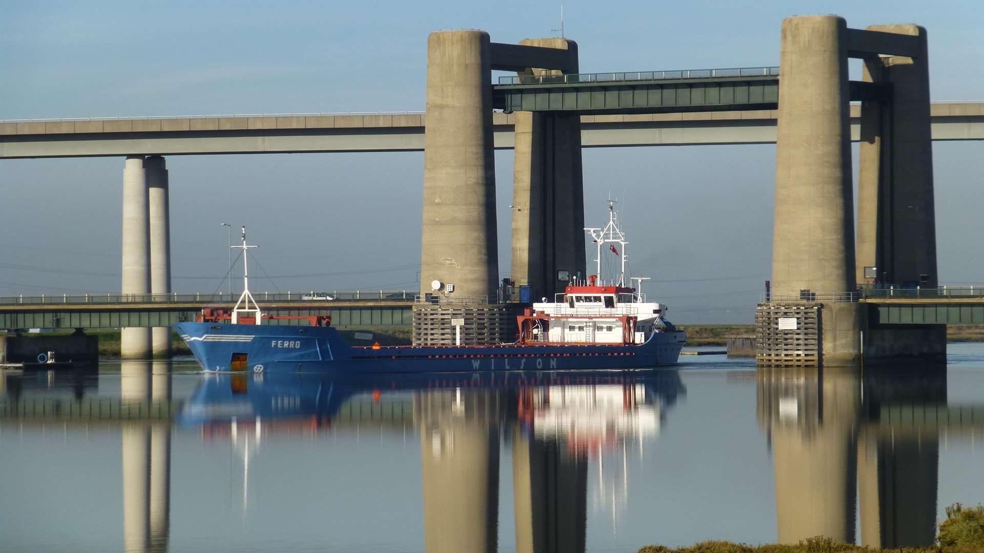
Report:
M388 374L647 369L676 363L682 331L640 344L351 346L331 327L178 323L207 371ZM233 361L236 362L233 362Z

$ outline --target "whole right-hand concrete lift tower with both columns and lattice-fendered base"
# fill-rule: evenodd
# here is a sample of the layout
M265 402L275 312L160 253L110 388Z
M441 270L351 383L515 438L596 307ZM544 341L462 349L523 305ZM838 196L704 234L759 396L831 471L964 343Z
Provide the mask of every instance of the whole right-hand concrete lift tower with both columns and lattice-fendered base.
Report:
M913 329L870 327L867 305L857 301L859 282L937 284L925 31L792 17L782 22L780 48L771 296L757 311L760 363L944 353L943 326L915 329L914 338ZM866 60L865 82L848 81L848 57ZM851 99L864 100L857 250Z

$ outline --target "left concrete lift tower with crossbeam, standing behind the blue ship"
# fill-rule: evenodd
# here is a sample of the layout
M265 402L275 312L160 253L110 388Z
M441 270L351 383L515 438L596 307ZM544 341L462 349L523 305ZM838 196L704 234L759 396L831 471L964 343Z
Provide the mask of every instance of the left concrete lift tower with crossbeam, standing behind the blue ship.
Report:
M492 70L577 70L565 39L491 42L485 31L437 31L427 40L421 296L413 340L496 343L516 336L502 303L496 235ZM558 285L558 270L584 271L581 123L577 115L518 116L514 271L537 293ZM566 281L564 282L566 283Z

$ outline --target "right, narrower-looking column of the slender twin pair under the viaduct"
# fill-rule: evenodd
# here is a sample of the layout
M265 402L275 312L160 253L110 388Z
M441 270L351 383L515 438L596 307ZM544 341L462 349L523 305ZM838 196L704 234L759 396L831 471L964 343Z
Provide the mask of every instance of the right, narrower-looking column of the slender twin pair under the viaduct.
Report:
M144 161L147 173L150 220L151 293L171 291L171 238L168 204L167 168L164 158L152 155ZM171 356L171 329L151 329L151 353L154 357Z

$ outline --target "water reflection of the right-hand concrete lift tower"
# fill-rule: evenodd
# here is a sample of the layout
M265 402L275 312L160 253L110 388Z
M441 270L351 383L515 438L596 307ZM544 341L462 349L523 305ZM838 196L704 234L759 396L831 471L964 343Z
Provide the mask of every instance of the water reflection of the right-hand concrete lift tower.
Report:
M760 369L759 422L775 470L778 540L872 547L935 538L945 367L857 374Z

